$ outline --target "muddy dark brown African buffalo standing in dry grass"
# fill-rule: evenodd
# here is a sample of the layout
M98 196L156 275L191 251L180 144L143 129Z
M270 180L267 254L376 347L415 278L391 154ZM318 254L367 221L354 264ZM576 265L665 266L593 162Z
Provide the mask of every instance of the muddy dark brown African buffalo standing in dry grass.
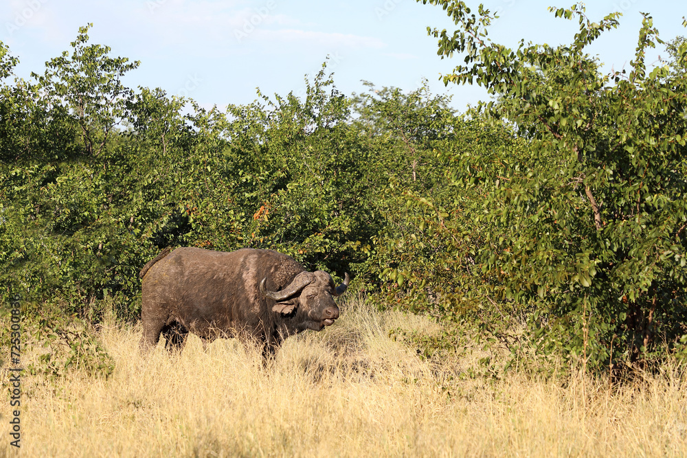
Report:
M291 334L333 324L339 318L333 296L343 294L349 281L347 273L337 287L328 273L307 272L290 256L247 248L165 249L139 275L144 352L160 334L168 350L181 350L192 332L203 344L247 337L273 354Z

